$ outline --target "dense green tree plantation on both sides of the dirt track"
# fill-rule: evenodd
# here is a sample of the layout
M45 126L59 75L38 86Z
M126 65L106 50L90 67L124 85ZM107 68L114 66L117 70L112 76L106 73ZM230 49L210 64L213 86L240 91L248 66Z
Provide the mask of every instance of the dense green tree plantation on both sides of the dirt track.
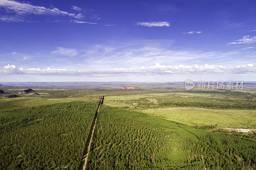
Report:
M75 101L4 111L0 169L80 169L97 107ZM85 169L256 168L254 136L209 128L102 105Z

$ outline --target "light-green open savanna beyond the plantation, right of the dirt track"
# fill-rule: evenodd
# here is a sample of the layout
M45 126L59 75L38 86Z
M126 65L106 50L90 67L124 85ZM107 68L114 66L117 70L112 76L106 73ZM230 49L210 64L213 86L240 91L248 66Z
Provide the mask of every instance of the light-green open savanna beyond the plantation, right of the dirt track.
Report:
M106 96L104 104L190 126L256 126L253 92L169 92ZM216 109L217 108L217 109Z

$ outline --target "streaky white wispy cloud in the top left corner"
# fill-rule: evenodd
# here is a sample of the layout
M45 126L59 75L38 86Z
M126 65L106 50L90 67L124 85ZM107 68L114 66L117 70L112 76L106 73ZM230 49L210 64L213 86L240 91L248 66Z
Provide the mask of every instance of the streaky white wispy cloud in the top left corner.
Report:
M47 8L44 6L32 5L28 2L18 2L13 0L0 0L0 9L4 9L5 15L0 16L0 20L4 22L30 22L29 16L68 16L79 21L86 18L100 18L97 14L91 13L90 10L82 10L77 6L72 6L72 9L78 11L77 14L68 11L62 11L58 8ZM81 10L79 10L81 9ZM85 14L88 13L88 17ZM55 19L56 20L56 19Z

